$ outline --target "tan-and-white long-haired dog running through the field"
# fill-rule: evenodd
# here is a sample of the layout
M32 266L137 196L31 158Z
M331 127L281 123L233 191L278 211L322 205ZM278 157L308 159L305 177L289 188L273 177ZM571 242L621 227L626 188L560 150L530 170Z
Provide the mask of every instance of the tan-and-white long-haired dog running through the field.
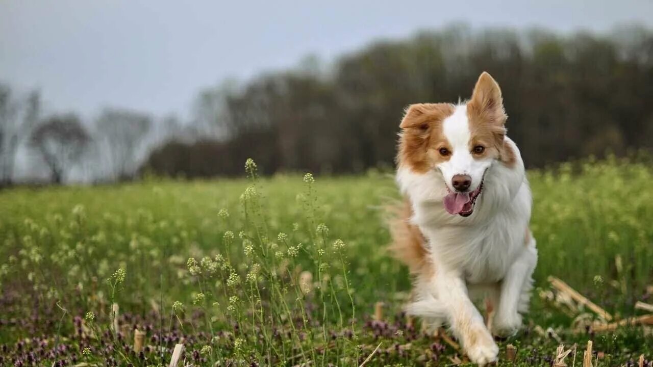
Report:
M404 208L390 225L415 280L409 315L449 325L470 360L497 360L528 309L535 239L532 196L497 82L483 72L469 101L411 104L400 124L396 182ZM485 297L488 325L473 300ZM491 331L490 331L491 330Z

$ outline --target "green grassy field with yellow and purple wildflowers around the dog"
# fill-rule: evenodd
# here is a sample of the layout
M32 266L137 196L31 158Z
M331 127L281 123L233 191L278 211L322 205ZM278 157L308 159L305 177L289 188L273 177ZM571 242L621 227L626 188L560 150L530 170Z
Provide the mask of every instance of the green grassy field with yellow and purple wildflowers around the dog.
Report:
M177 343L179 366L463 358L401 314L410 279L385 249L383 206L398 198L389 174L259 179L251 164L247 172L248 180L0 191L0 365L168 366ZM554 296L547 277L615 319L643 314L634 304L653 297L653 169L608 159L529 179L537 289L524 330L500 341L500 365L550 366L562 342L579 343L582 366L593 340L595 366L636 366L641 354L650 366L650 329L595 332L596 313ZM374 319L377 302L385 306Z

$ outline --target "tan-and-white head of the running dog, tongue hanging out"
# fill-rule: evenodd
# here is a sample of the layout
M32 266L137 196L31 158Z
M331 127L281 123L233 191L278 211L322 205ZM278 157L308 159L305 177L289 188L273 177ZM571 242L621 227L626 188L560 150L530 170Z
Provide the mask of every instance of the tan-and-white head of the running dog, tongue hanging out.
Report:
M499 85L483 72L464 104L412 104L400 125L398 161L416 174L441 172L447 185L443 202L450 214L471 215L494 161L511 165L515 155L504 145L505 120Z

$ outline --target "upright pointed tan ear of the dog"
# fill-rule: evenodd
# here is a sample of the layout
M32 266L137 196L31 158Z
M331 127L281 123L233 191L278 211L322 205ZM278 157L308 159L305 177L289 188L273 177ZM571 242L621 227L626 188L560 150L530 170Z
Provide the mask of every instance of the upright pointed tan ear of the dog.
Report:
M483 72L471 94L468 110L484 122L503 125L508 118L503 108L503 97L499 84L487 72Z

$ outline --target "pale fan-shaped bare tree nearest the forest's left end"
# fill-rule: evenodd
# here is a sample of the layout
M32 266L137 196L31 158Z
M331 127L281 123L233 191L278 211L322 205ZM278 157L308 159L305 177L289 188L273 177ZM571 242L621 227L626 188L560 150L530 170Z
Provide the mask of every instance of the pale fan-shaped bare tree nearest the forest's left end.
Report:
M108 158L110 176L114 180L131 178L140 163L142 148L151 127L146 114L109 108L96 121L98 140Z

